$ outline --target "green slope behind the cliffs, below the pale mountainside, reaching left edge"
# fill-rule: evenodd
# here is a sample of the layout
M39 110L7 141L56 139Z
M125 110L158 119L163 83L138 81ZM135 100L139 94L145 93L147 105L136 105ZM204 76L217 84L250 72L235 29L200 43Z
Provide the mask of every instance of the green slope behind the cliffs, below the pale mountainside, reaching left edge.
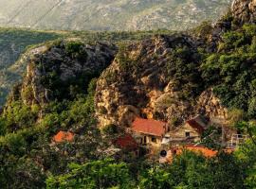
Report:
M9 90L20 80L27 64L17 62L29 48L60 38L78 38L84 42L112 43L139 41L155 34L170 34L169 30L137 32L41 31L19 28L0 28L0 105L4 105Z

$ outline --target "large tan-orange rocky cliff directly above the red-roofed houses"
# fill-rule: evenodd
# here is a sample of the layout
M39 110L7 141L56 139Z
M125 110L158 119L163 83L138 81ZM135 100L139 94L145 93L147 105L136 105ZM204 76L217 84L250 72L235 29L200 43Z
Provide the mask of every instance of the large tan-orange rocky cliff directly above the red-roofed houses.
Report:
M119 50L98 80L96 110L101 126L129 127L136 116L179 125L204 113L227 112L200 76L200 42L188 35L155 36Z

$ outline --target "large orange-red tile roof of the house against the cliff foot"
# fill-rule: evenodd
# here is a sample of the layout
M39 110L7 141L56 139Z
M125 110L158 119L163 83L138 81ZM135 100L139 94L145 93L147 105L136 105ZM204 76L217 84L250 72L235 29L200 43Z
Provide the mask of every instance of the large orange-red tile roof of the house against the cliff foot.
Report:
M154 119L136 118L133 122L132 129L135 132L149 134L153 136L163 136L166 133L165 126L167 123L156 121Z

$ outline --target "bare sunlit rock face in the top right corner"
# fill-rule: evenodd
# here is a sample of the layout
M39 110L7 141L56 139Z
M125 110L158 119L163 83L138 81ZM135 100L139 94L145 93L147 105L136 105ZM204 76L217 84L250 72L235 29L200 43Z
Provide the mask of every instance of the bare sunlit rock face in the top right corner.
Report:
M256 1L234 0L231 7L232 16L240 23L256 23Z

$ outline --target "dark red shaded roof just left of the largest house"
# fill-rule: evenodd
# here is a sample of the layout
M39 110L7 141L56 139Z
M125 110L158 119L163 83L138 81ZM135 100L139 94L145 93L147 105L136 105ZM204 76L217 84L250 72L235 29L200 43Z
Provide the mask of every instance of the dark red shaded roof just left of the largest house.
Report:
M126 134L116 139L114 141L114 145L118 146L121 149L128 150L134 150L138 147L136 140L130 134Z

